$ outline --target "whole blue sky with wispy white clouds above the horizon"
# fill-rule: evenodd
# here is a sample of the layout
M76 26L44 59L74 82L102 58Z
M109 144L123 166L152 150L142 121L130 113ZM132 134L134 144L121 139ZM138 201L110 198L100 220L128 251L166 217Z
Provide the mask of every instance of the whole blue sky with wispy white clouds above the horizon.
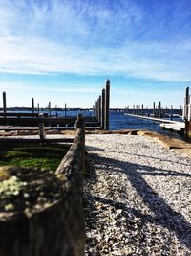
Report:
M0 93L9 106L183 104L191 0L0 0ZM0 101L0 107L3 102Z

